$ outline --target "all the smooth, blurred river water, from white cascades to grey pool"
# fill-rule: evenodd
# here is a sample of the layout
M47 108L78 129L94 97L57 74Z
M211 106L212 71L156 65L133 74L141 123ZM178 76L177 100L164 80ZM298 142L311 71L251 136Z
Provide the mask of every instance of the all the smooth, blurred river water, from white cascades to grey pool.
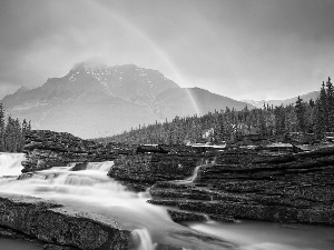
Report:
M23 154L0 154L0 192L18 193L53 200L79 210L112 217L132 233L136 250L155 250L156 242L176 243L184 249L217 250L330 250L334 249L334 229L326 227L286 226L243 221L240 223L189 223L187 228L173 222L164 207L147 203L148 192L134 193L107 177L112 162L89 163L86 170L71 171L72 166L36 172L31 178L16 180L22 169ZM191 182L198 173L196 168ZM2 177L1 177L2 176ZM199 232L226 244L194 237ZM0 240L0 249L3 241ZM20 249L20 248L19 248ZM24 249L24 248L21 248Z

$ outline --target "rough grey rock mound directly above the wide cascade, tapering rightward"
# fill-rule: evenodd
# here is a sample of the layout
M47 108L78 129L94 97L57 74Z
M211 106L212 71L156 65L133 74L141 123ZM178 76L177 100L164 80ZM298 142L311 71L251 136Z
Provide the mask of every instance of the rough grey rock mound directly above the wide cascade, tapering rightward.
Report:
M71 162L100 162L131 154L135 149L121 144L101 144L70 133L31 130L26 136L26 160L22 172L63 167Z

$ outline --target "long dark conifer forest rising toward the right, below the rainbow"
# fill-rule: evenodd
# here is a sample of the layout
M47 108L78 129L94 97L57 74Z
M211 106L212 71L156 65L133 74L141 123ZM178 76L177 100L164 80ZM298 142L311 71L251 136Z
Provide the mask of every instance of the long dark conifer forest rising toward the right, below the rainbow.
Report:
M96 141L134 144L184 144L196 142L235 142L247 134L265 139L284 138L288 133L311 133L321 140L325 132L334 132L334 90L331 78L322 83L316 100L294 104L268 106L240 111L225 108L198 117L175 117L171 121L139 126L120 134Z

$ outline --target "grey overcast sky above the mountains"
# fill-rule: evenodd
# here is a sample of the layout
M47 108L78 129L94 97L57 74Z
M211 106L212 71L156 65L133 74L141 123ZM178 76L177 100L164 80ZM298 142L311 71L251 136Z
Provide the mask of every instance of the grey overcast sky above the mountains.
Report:
M291 98L334 78L334 0L0 0L0 99L87 60Z

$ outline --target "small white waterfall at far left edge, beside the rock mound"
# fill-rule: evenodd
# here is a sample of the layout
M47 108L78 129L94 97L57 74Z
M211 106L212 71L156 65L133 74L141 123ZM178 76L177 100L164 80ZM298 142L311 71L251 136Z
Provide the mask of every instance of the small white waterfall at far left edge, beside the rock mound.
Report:
M21 174L23 167L21 161L23 153L0 153L0 177L12 177Z

